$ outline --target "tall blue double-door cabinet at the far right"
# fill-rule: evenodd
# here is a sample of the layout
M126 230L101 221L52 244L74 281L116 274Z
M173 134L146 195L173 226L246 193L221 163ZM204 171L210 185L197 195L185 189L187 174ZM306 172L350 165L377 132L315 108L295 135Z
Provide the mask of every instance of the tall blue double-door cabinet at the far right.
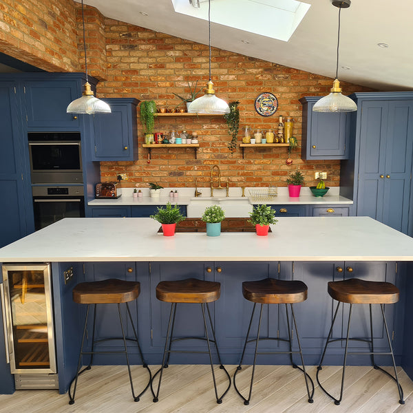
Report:
M412 100L371 100L361 94L357 101L360 111L357 215L368 215L407 233L413 97Z

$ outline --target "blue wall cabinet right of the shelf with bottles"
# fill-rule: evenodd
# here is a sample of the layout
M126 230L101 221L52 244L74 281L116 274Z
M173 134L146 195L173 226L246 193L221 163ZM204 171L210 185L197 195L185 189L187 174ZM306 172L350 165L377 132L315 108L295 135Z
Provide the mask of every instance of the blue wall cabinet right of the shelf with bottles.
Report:
M321 96L306 96L303 105L301 158L348 159L350 116L347 113L313 112Z

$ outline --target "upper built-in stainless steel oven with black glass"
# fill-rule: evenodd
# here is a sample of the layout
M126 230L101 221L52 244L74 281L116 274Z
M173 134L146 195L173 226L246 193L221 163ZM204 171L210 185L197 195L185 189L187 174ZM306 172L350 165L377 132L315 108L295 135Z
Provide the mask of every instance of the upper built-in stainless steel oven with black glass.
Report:
M79 132L28 134L32 184L82 183Z

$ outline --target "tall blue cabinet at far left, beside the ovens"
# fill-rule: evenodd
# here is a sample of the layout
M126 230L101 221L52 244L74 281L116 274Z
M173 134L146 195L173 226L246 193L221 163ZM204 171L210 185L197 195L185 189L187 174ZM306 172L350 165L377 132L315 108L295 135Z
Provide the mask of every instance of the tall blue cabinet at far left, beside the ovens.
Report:
M34 230L27 147L21 139L17 84L0 81L0 247ZM27 139L27 137L26 137ZM30 220L32 224L30 224Z

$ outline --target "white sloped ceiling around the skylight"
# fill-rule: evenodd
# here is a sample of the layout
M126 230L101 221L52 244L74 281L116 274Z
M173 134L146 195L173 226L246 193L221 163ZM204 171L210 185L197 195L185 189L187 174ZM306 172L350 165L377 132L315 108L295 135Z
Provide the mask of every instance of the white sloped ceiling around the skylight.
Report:
M225 1L229 0L211 1L211 21L214 3ZM334 78L338 9L330 0L301 1L311 7L288 42L211 23L211 45ZM84 3L111 19L208 44L207 21L176 13L171 0L84 0ZM208 3L202 1L201 8L207 7ZM233 12L237 13L237 9ZM413 89L412 15L411 0L352 0L350 8L341 10L339 80L385 91ZM254 18L259 19L251 16ZM271 25L271 21L261 20L262 25ZM377 43L387 43L389 47L379 47Z

